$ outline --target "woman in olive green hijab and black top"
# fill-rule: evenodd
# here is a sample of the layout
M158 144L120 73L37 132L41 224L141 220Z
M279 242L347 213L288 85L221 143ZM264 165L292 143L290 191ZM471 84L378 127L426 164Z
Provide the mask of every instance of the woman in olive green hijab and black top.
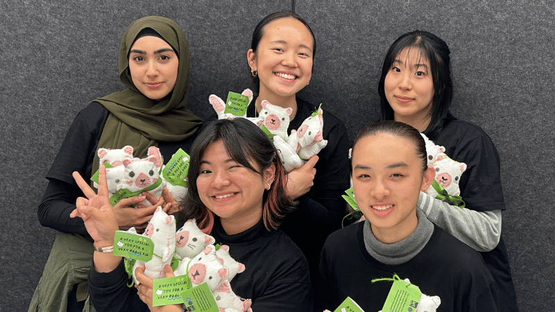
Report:
M175 21L144 17L128 26L119 49L119 78L126 89L96 99L79 112L46 175L49 184L38 217L42 225L60 233L29 311L39 307L40 311L81 311L83 302L76 306L77 298L87 297L87 288L78 284L86 282L92 239L83 220L69 217L76 198L83 196L71 173L77 171L89 181L99 168L96 150L101 147L129 145L135 157L146 157L149 146L158 146L164 159L170 159L178 148L189 151L202 124L187 110L189 50ZM156 206L164 204L163 198L144 195L121 200L114 207L121 229L144 228ZM130 208L145 198L156 205Z

